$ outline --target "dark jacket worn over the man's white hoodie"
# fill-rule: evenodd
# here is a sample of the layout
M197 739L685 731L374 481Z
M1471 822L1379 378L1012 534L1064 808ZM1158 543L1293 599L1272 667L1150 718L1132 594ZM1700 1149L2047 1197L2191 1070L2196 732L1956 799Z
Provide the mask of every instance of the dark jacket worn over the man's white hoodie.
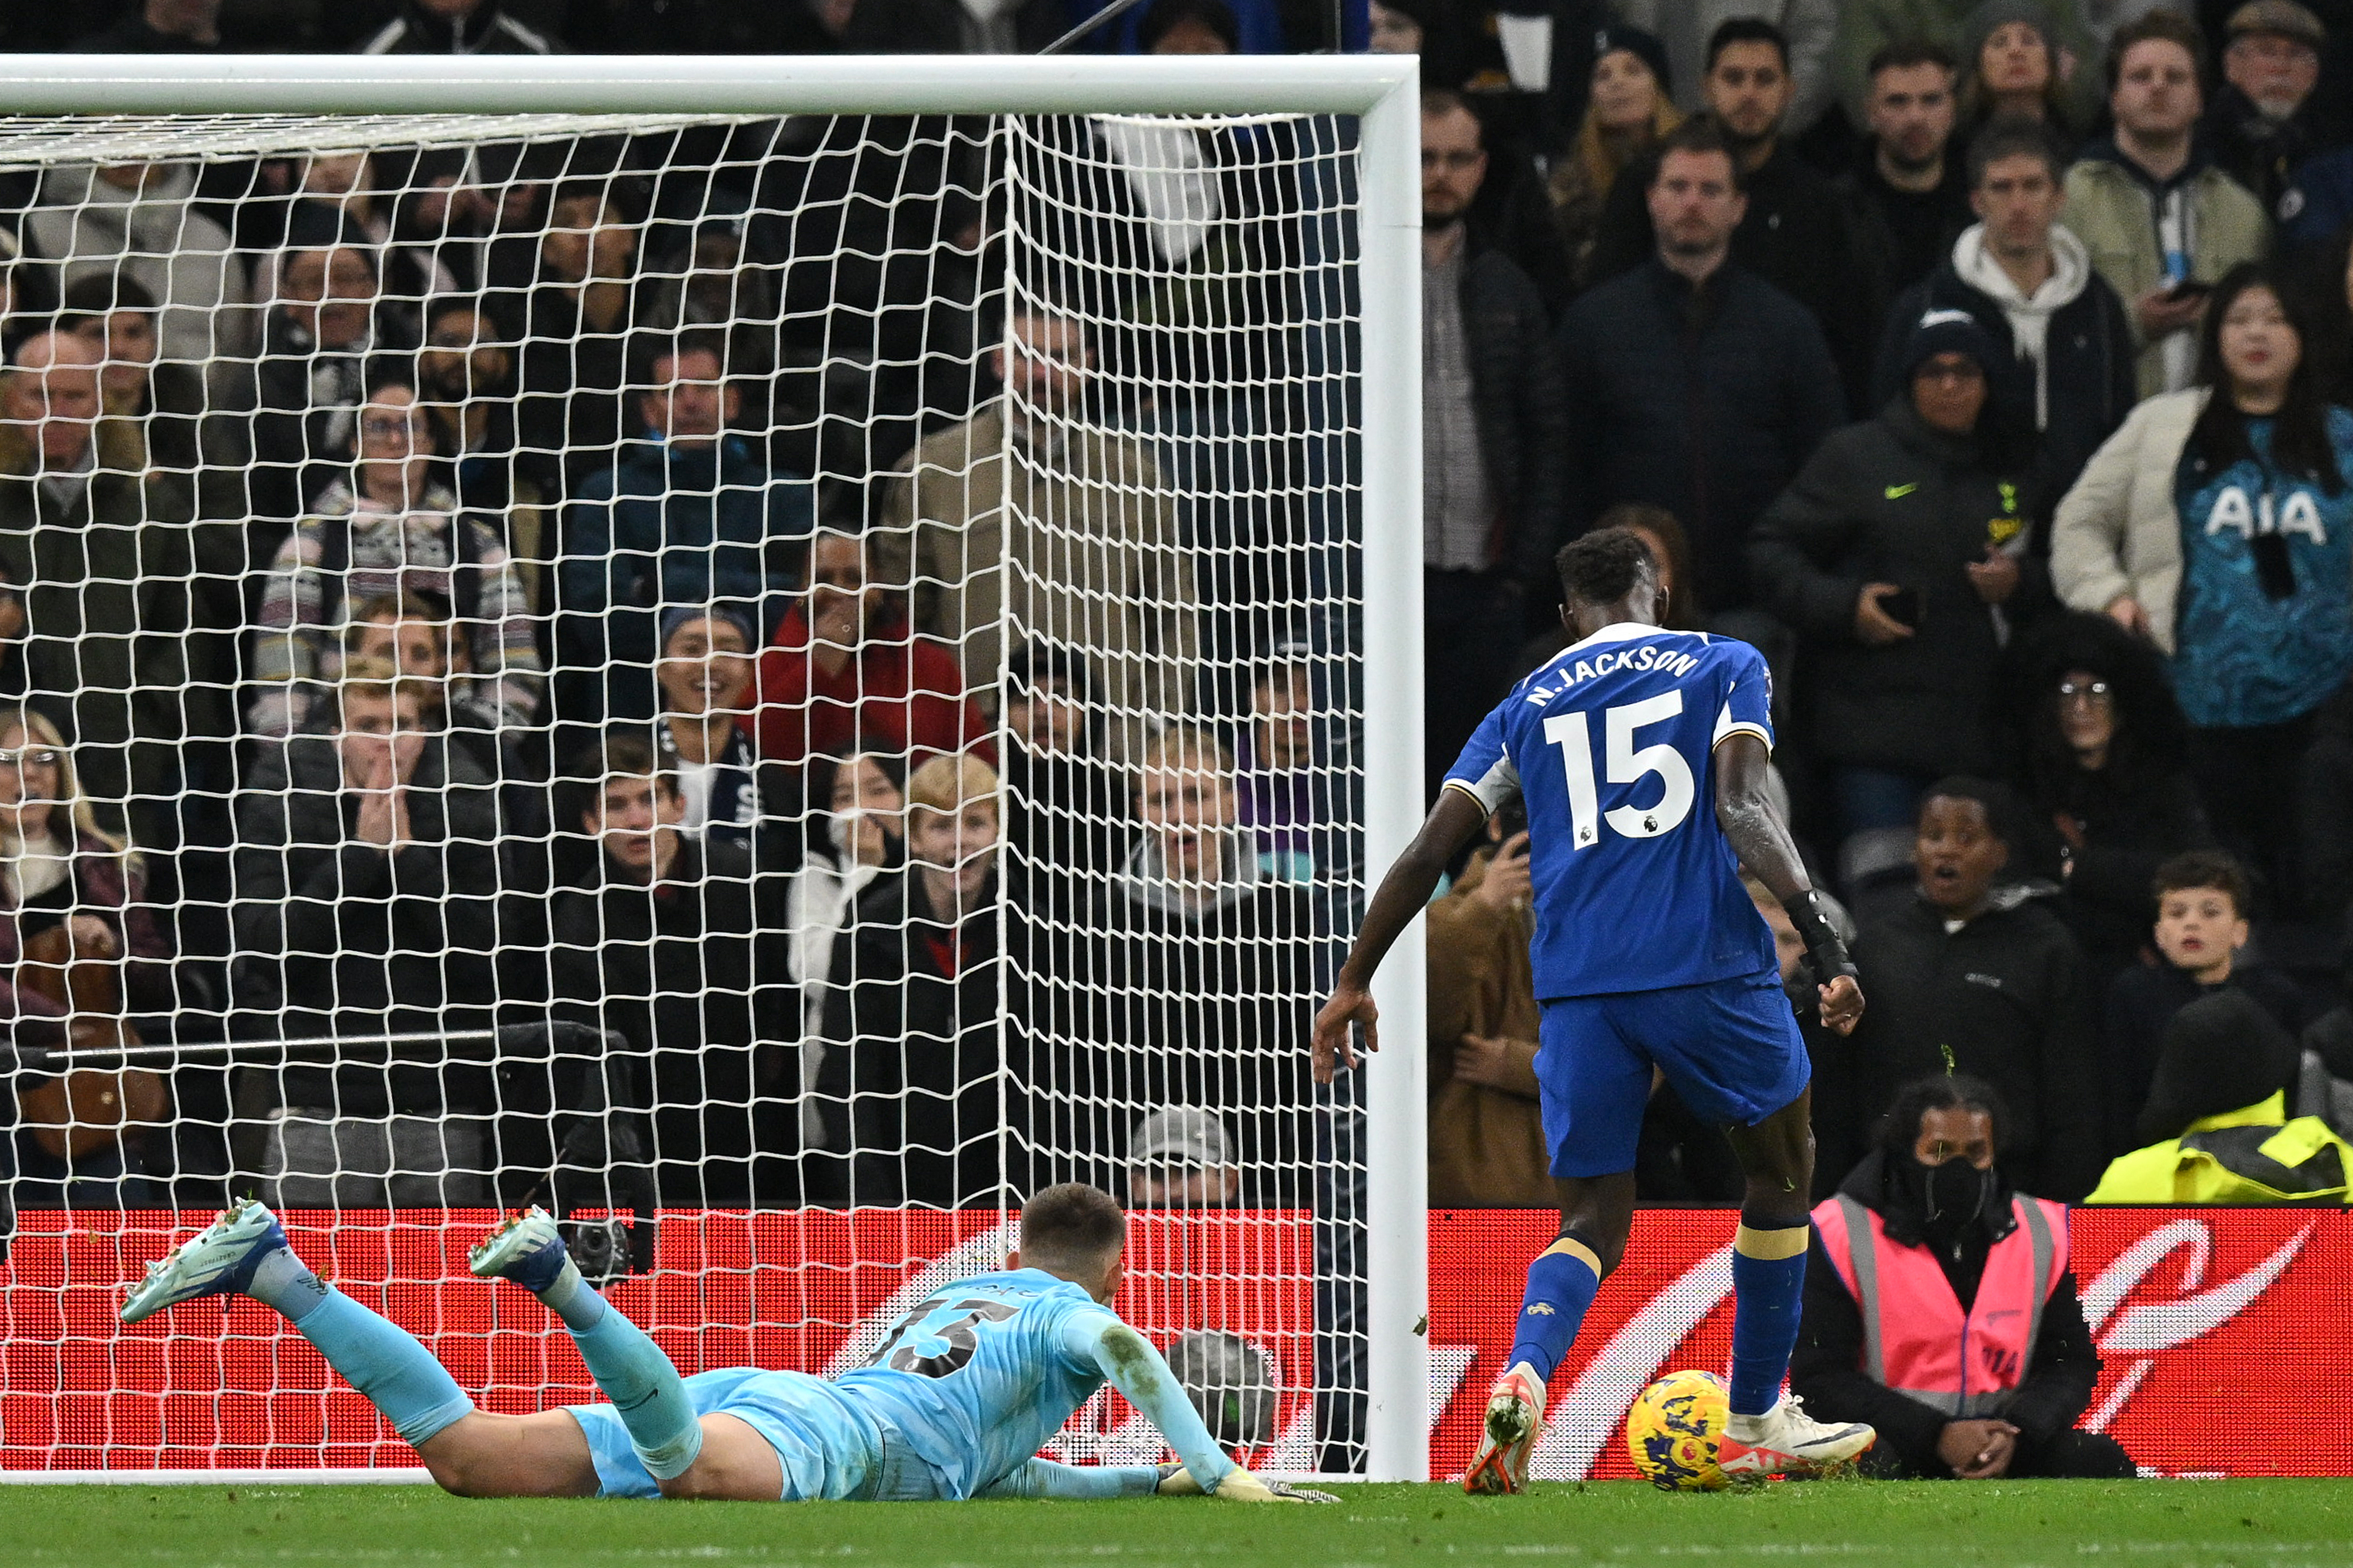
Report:
M2002 306L1984 289L1962 282L1960 273L1953 270L1953 247L1948 244L1937 270L1904 289L1887 310L1878 362L1871 371L1871 395L1880 404L1904 390L1904 346L1929 310L1967 310L1995 343L2017 355ZM2132 343L2132 322L2106 277L2092 273L2082 294L2052 313L2045 353L2049 353L2049 423L2035 444L2033 475L2035 491L2045 503L2057 505L2099 444L2115 435L2125 414L2132 414L2132 404L2141 400L2134 381L2139 350ZM1988 393L1991 407L2012 428L2035 428L2033 364L2012 360L2007 371L1993 378Z

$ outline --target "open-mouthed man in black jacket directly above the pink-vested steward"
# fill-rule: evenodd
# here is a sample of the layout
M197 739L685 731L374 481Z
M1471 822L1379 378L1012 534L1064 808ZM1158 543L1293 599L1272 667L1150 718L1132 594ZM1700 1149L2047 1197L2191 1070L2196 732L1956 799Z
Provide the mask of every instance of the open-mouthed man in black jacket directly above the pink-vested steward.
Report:
M1854 943L1871 1011L1854 1032L1857 1105L1967 1072L2012 1107L2002 1164L2019 1192L2068 1201L2099 1171L2099 1041L2082 952L2012 879L2014 799L1944 778L1920 802L1918 898L1866 919ZM1854 1128L1861 1143L1868 1128Z

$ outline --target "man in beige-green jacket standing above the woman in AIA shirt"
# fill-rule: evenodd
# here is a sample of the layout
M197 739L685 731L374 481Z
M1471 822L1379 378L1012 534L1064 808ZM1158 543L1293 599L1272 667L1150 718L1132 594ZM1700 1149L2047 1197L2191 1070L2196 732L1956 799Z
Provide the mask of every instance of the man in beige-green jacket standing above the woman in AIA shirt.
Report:
M2141 343L2141 397L2191 386L2209 287L2271 249L2252 190L2198 141L2205 40L2181 12L2148 12L2108 45L2115 134L2066 172L2068 228L2092 252Z

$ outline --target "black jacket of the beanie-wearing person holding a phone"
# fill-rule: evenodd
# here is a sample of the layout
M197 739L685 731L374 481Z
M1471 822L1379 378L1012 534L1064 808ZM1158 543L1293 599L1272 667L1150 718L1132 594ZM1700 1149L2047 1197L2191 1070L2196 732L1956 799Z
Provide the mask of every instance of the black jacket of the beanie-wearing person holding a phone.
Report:
M2021 555L2019 588L1995 616L1967 567L1986 559L1986 545L2024 541L2028 510L1977 440L1929 430L1906 400L1826 440L1758 520L1748 571L1805 644L1809 733L1826 759L1913 773L1991 766L1984 715L2000 628L2049 604L2049 574ZM1913 637L1857 639L1864 583L1920 595Z

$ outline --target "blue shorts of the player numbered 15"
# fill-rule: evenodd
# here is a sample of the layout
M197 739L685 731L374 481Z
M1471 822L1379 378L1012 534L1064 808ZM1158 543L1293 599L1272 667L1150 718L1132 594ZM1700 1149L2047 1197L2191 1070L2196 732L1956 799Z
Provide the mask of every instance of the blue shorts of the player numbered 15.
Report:
M1659 1067L1701 1121L1755 1126L1812 1079L1774 971L1544 1004L1537 1086L1553 1175L1633 1171Z

